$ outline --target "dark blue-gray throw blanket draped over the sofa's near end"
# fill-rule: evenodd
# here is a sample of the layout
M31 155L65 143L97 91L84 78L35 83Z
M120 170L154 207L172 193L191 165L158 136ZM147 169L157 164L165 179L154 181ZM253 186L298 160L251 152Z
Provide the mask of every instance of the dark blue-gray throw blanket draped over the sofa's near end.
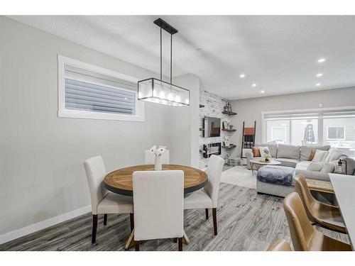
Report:
M258 170L256 177L261 182L290 186L293 172L295 172L295 168L293 167L265 165Z

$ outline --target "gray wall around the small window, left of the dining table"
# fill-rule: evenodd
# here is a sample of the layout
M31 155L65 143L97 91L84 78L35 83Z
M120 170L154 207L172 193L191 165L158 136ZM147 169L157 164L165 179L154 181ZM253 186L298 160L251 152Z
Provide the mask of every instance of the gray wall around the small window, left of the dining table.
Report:
M89 205L84 159L102 155L108 171L142 164L151 145L169 148L168 122L190 121L190 107L175 109L171 121L171 107L149 103L145 122L58 118L58 54L142 79L157 75L4 16L0 27L0 235ZM190 165L191 139L190 128L180 131L175 146L184 153L174 148L173 162Z

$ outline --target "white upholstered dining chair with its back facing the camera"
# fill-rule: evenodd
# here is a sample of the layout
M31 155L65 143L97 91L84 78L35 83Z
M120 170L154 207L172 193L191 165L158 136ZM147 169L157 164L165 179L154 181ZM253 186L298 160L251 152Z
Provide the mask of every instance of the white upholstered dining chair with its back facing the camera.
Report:
M133 172L134 233L136 250L142 240L178 238L184 233L184 172Z

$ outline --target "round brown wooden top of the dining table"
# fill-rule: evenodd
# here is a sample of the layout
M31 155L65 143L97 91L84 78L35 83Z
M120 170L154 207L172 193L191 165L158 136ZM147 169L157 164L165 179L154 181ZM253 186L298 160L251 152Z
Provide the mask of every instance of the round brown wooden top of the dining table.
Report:
M136 171L153 171L154 165L136 165L110 172L104 178L104 187L118 194L133 195L132 174ZM207 184L207 174L185 165L163 165L163 170L184 171L184 192L190 193L202 189Z

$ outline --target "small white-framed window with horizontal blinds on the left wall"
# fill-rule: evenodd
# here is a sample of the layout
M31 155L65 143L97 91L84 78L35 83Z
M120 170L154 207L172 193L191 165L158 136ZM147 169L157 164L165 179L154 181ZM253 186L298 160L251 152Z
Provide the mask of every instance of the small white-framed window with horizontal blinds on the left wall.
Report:
M58 116L144 121L137 80L58 55Z

